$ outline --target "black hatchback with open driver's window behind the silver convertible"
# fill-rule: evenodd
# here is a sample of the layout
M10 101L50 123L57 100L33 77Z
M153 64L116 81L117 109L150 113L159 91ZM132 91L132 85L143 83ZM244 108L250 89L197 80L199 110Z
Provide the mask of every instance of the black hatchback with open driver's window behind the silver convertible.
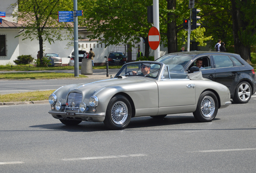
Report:
M171 70L190 72L196 60L202 59L201 69L204 78L224 84L229 88L235 103L247 103L256 92L256 75L239 54L227 52L175 52L166 54L156 61L169 65Z

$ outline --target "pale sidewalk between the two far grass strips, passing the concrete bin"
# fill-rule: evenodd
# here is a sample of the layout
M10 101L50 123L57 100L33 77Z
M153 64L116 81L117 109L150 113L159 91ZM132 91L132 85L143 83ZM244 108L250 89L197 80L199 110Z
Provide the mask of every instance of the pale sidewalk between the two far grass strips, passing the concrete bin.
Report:
M119 68L109 69L109 77L107 77L107 70L106 69L95 69L93 70L92 75L85 75L88 79L109 79L110 75L113 77L119 71ZM56 73L73 73L74 70L31 70L31 71L0 71L0 73L10 73L10 72L56 72ZM79 70L79 74L81 74L81 70Z

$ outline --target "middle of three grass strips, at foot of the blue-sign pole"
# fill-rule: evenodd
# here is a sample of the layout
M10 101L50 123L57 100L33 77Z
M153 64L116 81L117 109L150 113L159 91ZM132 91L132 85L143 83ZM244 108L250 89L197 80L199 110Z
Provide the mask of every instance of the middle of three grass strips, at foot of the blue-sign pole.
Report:
M85 75L79 75L81 78L86 78ZM56 73L56 72L13 72L1 73L0 79L56 79L56 78L75 78L72 73Z

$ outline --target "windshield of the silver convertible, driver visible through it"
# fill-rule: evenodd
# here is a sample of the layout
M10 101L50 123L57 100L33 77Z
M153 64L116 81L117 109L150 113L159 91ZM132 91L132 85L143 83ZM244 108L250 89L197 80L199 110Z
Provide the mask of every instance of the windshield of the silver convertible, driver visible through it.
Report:
M160 68L160 64L138 61L138 63L125 64L116 76L148 76L156 78Z

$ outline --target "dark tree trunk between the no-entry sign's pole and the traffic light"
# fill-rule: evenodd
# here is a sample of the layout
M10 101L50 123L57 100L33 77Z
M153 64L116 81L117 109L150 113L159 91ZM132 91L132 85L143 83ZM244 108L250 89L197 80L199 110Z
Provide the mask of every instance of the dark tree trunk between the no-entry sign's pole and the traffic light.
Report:
M167 0L167 10L175 10L176 0ZM167 44L168 53L177 52L178 40L177 40L177 28L175 14L169 12L167 14Z

